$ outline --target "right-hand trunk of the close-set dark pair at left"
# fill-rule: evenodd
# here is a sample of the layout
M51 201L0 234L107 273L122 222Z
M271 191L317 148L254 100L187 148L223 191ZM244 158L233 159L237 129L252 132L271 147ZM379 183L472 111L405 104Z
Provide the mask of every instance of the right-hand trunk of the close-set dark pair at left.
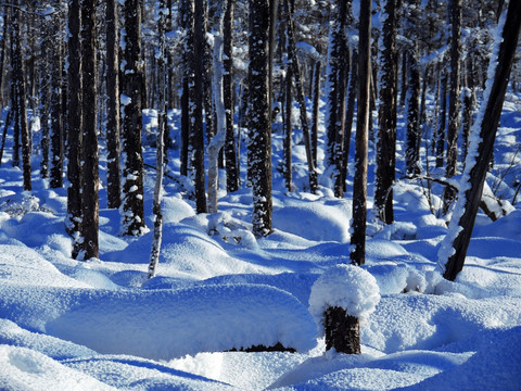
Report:
M84 260L98 257L99 240L99 172L97 136L97 47L96 0L81 0L81 255Z

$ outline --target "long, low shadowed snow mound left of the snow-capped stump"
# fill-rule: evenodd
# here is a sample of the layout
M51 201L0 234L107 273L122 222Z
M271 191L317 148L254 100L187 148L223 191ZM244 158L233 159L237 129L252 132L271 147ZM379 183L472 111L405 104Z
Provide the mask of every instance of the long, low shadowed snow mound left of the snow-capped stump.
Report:
M47 323L47 333L99 353L169 360L278 342L297 351L316 344L307 310L268 286L105 291L72 302Z

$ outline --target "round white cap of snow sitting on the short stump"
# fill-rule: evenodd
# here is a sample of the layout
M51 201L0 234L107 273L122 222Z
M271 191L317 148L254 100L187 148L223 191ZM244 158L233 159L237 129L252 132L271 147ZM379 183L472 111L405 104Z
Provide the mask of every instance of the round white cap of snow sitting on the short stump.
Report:
M345 310L347 315L365 319L380 301L377 280L361 267L340 264L326 270L313 285L309 312L317 324L322 324L325 311Z

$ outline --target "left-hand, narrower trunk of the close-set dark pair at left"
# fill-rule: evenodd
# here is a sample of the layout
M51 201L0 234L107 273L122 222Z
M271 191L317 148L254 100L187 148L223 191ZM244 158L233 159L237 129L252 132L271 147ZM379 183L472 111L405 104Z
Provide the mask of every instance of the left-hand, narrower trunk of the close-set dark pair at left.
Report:
M79 0L68 3L68 166L67 222L66 230L74 239L73 254L76 258L81 248L81 41Z

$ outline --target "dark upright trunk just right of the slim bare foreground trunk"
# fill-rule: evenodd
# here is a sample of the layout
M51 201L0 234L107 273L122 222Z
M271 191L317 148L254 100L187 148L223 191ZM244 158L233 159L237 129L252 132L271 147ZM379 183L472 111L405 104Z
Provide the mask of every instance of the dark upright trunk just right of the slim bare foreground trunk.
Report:
M385 224L392 224L393 182L396 166L396 0L386 0L383 45L380 54L380 129L377 140L377 176L374 206Z

